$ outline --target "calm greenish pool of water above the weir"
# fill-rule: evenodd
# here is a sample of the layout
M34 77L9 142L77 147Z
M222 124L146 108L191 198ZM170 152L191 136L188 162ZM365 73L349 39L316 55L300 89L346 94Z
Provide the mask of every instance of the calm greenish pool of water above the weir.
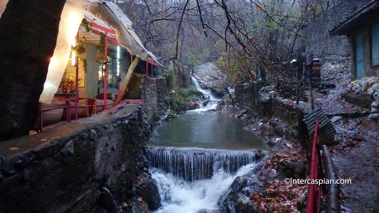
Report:
M219 112L187 111L164 122L151 133L147 145L206 149L270 150L266 142L243 129L240 119Z

